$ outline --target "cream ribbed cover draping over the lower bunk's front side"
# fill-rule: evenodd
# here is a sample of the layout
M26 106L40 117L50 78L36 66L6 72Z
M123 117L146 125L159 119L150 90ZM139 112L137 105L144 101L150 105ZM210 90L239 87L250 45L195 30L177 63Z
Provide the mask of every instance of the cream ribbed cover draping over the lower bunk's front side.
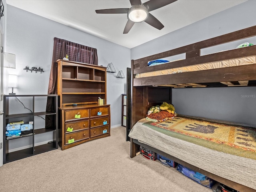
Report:
M145 118L138 121L130 131L129 137L207 172L256 190L255 158L245 158L179 139L152 126L146 126L148 123Z

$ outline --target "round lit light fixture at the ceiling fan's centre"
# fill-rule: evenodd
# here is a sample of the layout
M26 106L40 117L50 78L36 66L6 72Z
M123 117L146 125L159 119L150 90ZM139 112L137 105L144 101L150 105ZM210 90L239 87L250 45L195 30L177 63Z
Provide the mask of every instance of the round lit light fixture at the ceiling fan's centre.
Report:
M130 21L138 23L148 18L148 10L143 5L133 5L127 15Z

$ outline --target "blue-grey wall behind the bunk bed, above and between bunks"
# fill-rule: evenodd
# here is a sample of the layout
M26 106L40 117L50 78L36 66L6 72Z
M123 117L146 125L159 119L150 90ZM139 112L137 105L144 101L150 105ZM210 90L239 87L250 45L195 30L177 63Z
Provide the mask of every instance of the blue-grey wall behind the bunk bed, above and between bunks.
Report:
M254 26L256 25L255 7L256 1L249 0L200 20L180 30L132 48L131 58L138 59L150 56ZM256 44L255 38L250 38L248 41ZM246 41L240 40L236 43L212 48L212 50L221 51L236 48L243 42ZM256 126L255 87L172 89L172 103L176 107L178 114L247 123Z

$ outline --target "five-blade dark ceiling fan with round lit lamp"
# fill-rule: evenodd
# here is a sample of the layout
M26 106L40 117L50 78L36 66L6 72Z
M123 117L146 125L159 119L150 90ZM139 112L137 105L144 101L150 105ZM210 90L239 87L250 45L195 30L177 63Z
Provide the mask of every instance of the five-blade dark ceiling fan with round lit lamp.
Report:
M130 0L130 3L132 5L131 8L101 9L101 10L95 10L95 11L96 13L100 13L100 14L126 13L128 21L124 28L124 32L123 32L124 34L130 31L134 23L143 22L143 21L150 24L154 28L161 30L162 28L164 28L164 25L149 12L152 10L161 8L163 6L166 6L168 4L171 4L172 2L175 2L175 1L177 0L149 0L142 4L140 0Z

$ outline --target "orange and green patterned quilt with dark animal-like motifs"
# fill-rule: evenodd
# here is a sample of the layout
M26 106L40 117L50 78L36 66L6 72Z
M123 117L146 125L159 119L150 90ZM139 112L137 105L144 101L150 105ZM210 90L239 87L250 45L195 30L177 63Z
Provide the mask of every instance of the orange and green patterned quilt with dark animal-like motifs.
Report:
M194 144L256 160L256 128L187 117L144 125Z

